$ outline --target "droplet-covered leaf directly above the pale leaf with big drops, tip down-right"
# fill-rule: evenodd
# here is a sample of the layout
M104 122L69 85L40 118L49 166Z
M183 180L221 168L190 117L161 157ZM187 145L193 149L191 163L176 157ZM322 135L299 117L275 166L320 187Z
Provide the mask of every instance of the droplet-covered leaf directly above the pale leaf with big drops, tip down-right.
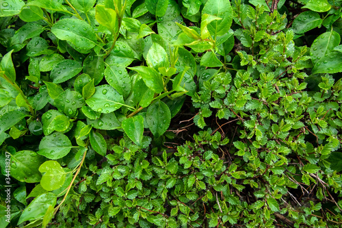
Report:
M115 64L106 64L105 79L109 85L113 86L120 94L127 97L131 92L131 78L126 68Z

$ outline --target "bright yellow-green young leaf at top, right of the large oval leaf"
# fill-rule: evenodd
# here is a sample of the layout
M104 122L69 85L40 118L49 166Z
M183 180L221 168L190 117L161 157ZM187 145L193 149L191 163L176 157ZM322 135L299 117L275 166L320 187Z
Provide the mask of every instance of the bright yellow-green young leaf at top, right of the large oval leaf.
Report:
M119 22L115 10L105 8L105 5L96 5L95 10L96 21L98 21L100 25L107 27L113 36L117 36L116 33L119 29Z

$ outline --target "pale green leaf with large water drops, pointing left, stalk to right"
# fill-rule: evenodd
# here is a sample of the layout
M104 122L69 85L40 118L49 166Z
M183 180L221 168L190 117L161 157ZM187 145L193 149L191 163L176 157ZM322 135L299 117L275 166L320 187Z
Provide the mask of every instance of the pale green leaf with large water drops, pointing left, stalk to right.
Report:
M118 110L124 105L124 99L121 94L109 85L95 87L95 93L86 100L89 107L101 113L109 113Z

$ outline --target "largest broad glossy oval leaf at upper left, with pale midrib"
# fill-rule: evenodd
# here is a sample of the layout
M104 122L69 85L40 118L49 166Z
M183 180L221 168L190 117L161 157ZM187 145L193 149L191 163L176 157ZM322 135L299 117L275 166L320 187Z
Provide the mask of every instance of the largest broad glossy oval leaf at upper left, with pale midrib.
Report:
M89 53L90 49L97 44L94 29L86 21L69 18L63 19L57 21L51 27L51 31L60 40L70 42L81 53Z

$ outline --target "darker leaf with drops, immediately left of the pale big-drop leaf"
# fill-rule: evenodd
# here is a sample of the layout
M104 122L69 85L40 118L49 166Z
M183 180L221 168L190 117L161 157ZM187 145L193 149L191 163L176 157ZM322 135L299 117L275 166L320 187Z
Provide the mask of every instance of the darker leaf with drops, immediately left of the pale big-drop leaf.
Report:
M67 89L55 98L53 105L62 110L67 116L73 117L77 114L77 109L86 103L79 92Z

